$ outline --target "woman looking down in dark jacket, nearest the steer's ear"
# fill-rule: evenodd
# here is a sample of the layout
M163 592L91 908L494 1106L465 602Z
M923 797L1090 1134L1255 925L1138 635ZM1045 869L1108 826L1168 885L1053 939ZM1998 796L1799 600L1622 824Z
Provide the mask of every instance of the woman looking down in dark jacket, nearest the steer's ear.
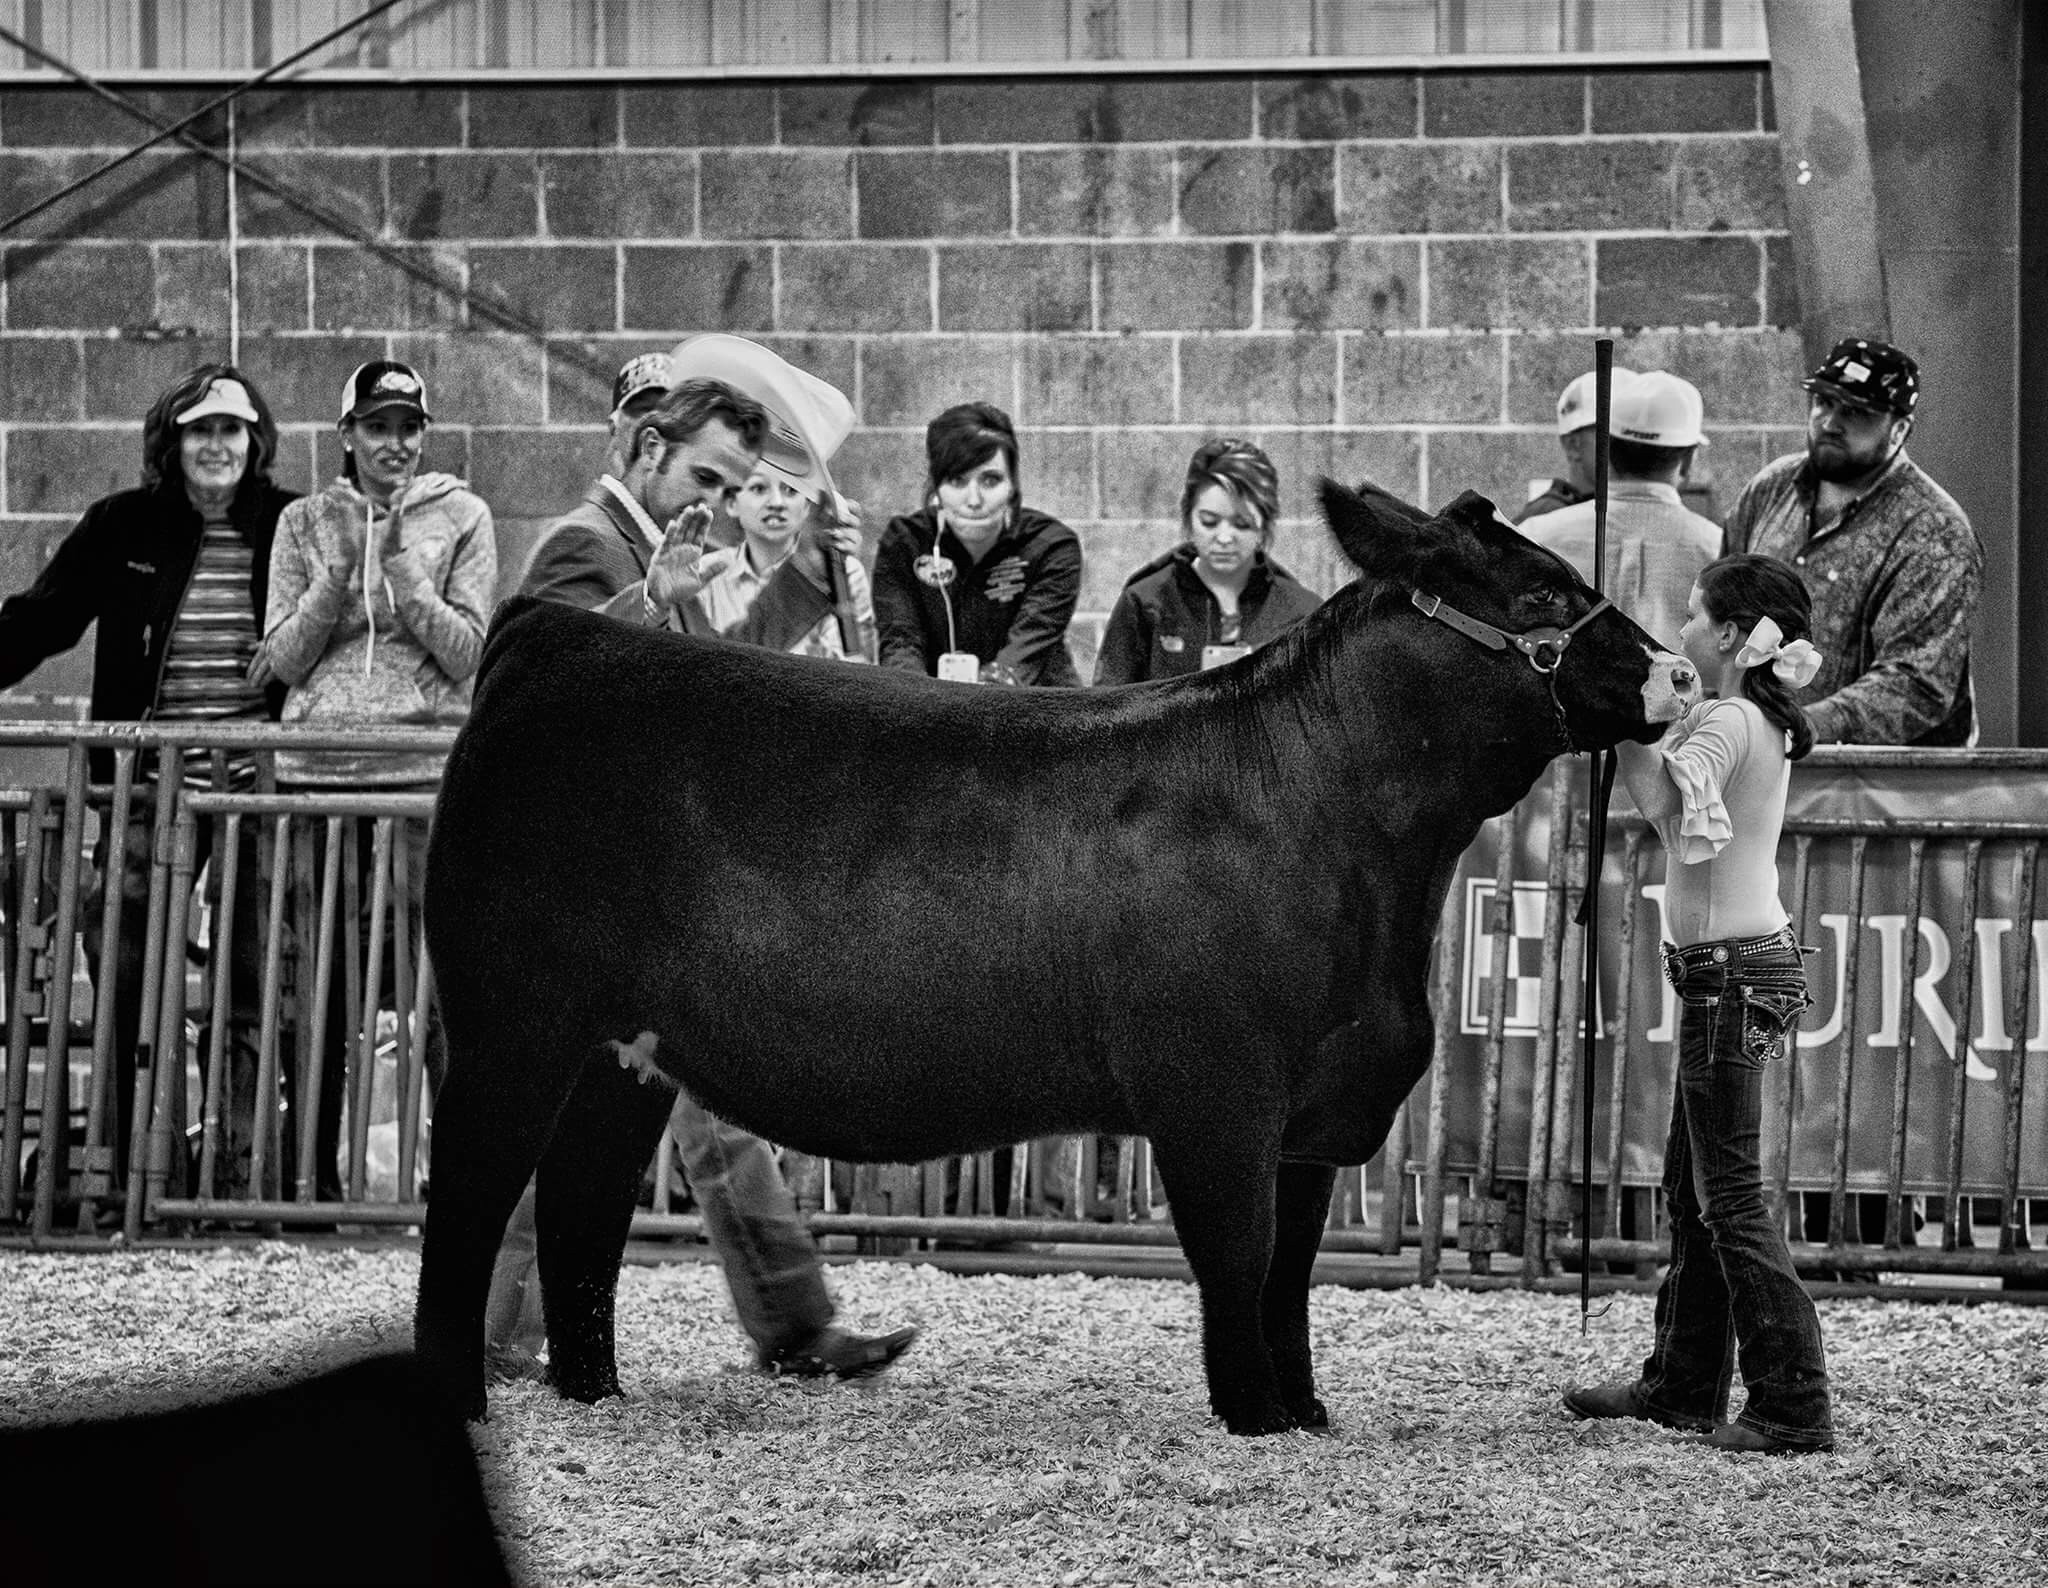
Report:
M1116 596L1096 656L1098 684L1135 684L1235 662L1319 604L1268 555L1280 479L1249 441L1196 447L1180 492L1182 543Z

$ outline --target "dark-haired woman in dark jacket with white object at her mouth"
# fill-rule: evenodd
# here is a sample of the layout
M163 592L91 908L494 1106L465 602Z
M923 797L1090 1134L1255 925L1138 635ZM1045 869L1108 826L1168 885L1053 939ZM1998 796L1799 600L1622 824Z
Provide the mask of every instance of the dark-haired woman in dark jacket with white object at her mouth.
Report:
M926 504L889 520L874 551L874 621L887 668L983 684L1079 684L1067 623L1081 541L1024 506L1018 436L985 402L924 432Z

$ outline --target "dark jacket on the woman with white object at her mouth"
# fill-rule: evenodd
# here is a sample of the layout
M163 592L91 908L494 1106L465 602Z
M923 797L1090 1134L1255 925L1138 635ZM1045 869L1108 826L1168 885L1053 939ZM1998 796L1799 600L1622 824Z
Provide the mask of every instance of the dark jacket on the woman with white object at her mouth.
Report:
M918 578L918 557L944 539L944 588ZM1081 539L1059 518L1020 508L977 563L932 508L891 518L874 549L874 623L885 668L938 672L942 652L973 652L1020 684L1075 686L1067 623L1081 598ZM952 629L946 609L952 609Z

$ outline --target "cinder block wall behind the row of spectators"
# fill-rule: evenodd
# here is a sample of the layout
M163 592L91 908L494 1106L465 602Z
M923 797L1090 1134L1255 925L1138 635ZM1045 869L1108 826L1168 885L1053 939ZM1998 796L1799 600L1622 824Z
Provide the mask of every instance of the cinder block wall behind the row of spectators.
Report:
M203 94L143 98L168 117ZM0 207L135 137L82 90L10 88ZM1802 414L1757 68L313 86L246 100L233 137L545 334L197 156L145 156L4 244L0 586L133 484L143 408L231 332L295 488L336 467L346 373L416 363L428 459L496 508L508 586L592 477L629 352L731 330L842 385L870 531L918 504L926 420L995 402L1028 500L1087 547L1083 670L1122 578L1178 537L1204 436L1272 451L1278 551L1329 590L1317 475L1520 502L1597 330L1698 381L1720 506ZM82 715L86 688L80 647L0 711Z

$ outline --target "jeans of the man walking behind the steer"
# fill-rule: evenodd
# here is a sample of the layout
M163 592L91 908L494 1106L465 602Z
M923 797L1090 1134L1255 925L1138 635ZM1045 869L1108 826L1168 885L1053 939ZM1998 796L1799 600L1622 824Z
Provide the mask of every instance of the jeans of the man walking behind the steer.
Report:
M831 1322L831 1295L811 1231L782 1184L774 1147L678 1092L668 1121L676 1156L690 1182L705 1236L725 1266L739 1328L762 1361L807 1344ZM494 1359L539 1354L541 1279L535 1268L532 1184L506 1227L483 1313L485 1348Z

